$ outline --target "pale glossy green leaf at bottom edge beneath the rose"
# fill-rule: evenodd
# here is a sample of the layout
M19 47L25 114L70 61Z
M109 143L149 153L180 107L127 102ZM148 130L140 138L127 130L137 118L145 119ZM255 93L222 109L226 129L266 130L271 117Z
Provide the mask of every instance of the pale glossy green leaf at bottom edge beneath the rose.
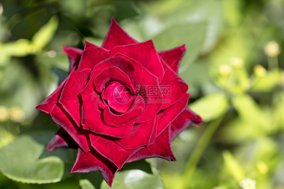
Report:
M152 174L139 169L119 171L110 187L103 181L101 189L163 189L164 185L158 170L152 167Z

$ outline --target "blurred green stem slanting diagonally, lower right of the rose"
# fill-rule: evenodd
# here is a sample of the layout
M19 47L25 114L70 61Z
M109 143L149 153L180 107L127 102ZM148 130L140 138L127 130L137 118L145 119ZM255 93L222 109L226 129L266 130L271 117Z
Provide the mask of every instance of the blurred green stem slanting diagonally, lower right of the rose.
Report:
M207 147L208 143L210 142L213 134L219 127L223 116L219 117L218 119L212 121L208 127L206 128L205 132L203 133L202 137L200 138L197 147L195 148L194 152L192 153L190 159L188 159L183 172L183 186L184 188L188 188L191 183L192 176L196 170L197 164L203 155L203 151Z

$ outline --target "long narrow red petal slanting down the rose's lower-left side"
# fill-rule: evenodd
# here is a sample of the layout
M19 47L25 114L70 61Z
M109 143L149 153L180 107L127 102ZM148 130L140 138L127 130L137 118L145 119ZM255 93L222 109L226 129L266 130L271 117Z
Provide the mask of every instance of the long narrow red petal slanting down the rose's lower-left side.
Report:
M59 124L84 152L90 151L87 139L89 132L80 129L74 120L58 105L54 105L50 114L52 120Z

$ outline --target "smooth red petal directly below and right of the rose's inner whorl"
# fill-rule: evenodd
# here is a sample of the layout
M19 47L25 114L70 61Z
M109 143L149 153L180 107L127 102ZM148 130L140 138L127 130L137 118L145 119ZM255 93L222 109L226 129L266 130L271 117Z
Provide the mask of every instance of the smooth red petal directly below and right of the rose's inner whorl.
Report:
M156 115L150 121L134 125L125 137L115 140L115 142L126 150L148 146L151 143L152 134L156 133L154 129L157 128L157 124L158 117Z

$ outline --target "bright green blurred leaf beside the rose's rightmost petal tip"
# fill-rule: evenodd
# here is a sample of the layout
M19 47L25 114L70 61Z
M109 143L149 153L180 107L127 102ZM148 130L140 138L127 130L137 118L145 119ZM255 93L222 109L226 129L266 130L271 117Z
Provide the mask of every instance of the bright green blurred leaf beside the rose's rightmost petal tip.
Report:
M223 93L210 94L190 104L190 108L199 114L204 121L220 117L228 107L228 99Z

